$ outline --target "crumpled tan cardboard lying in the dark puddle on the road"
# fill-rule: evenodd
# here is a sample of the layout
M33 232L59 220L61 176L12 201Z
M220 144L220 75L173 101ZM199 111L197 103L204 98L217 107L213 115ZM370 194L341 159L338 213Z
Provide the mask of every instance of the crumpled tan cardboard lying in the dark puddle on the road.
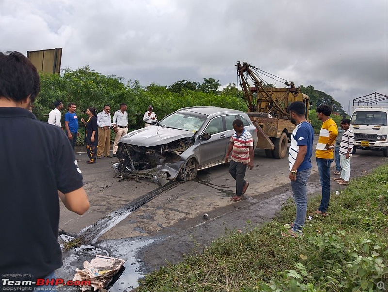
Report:
M86 291L93 287L94 291L107 287L113 276L124 265L125 260L96 255L90 263L86 260L83 262L83 270L76 269L73 281L90 281L90 286L81 286L82 291Z

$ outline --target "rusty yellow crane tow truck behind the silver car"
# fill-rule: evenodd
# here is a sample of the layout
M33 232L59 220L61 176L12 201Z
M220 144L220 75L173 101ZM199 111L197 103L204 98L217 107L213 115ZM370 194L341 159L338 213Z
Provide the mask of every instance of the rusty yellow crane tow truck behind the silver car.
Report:
M309 121L310 97L301 93L291 81L286 81L284 88L271 87L259 74L268 77L272 75L277 79L271 78L277 81L279 77L246 62L237 62L236 68L242 95L248 106L248 116L258 129L256 147L265 149L269 158L283 159L287 155L288 142L295 129L287 106L291 102L302 101L306 107L306 119Z

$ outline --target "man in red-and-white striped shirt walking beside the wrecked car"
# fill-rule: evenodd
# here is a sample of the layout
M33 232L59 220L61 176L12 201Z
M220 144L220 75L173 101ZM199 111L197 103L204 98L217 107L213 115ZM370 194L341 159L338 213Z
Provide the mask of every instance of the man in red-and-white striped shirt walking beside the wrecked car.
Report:
M245 181L246 166L249 170L253 168L253 138L250 132L242 126L242 120L233 121L233 135L230 137L229 147L225 156L228 161L230 153L229 173L236 180L236 195L232 197L233 202L241 200L242 194L246 192L249 182Z

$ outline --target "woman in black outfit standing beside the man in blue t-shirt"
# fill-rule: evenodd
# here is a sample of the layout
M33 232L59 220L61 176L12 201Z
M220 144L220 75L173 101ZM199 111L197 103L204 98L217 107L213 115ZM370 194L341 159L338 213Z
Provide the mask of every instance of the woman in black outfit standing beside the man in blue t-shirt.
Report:
M97 114L96 109L93 107L88 107L86 114L89 116L87 122L84 119L81 119L81 122L85 124L85 142L86 142L86 151L89 156L89 161L86 163L92 164L96 163L97 155L97 145L98 145L98 126L97 126Z

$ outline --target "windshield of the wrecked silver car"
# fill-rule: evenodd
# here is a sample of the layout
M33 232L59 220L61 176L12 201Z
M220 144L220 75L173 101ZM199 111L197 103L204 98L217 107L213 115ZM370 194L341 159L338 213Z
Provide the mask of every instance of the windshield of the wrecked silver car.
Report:
M159 125L195 133L199 130L199 128L201 128L204 121L205 116L202 118L194 114L177 112L162 119Z

